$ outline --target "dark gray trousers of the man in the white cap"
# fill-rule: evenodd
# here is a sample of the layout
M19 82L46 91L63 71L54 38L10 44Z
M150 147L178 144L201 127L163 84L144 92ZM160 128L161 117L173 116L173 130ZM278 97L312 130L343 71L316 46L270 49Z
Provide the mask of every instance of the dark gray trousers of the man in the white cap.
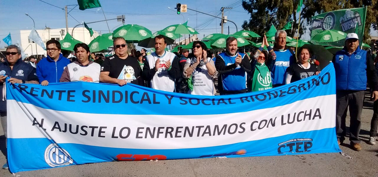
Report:
M365 91L338 90L336 91L336 136L340 141L345 140L345 118L349 106L350 137L353 143L360 143L358 139L361 129L361 114L364 103Z

